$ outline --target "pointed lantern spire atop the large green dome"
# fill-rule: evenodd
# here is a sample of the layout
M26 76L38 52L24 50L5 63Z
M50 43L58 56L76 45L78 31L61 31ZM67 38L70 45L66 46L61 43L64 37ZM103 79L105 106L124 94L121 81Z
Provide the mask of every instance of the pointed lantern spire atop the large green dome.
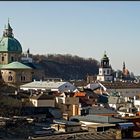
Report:
M3 37L13 37L13 29L10 26L9 18L8 18L8 24L5 25L5 29L3 31Z

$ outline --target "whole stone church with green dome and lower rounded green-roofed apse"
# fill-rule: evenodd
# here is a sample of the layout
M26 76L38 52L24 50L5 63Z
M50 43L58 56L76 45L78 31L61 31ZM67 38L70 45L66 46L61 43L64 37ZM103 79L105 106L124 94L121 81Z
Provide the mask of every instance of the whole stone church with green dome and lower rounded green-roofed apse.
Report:
M1 80L13 85L21 85L34 79L42 80L44 77L43 70L31 61L24 63L21 56L22 46L14 38L13 29L8 21L0 39Z

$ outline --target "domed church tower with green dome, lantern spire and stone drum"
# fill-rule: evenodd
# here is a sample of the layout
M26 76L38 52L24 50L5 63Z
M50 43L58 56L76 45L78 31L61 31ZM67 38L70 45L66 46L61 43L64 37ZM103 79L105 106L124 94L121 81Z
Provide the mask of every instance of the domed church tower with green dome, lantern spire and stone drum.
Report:
M20 61L21 53L21 44L14 38L13 29L8 20L0 40L0 64L5 65L14 61Z

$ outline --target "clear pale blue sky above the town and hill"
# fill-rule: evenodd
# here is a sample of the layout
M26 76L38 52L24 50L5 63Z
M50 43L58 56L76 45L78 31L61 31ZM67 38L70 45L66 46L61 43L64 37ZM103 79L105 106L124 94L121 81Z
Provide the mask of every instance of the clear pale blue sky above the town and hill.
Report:
M0 35L8 18L23 51L101 60L140 75L139 1L0 1Z

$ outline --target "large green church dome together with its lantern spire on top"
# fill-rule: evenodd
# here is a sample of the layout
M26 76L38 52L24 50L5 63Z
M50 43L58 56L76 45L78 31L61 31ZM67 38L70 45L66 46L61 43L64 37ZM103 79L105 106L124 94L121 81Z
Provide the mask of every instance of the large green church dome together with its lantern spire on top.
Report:
M0 40L0 52L22 52L21 44L14 38L12 31L13 29L8 22L8 25L5 26L3 37Z

